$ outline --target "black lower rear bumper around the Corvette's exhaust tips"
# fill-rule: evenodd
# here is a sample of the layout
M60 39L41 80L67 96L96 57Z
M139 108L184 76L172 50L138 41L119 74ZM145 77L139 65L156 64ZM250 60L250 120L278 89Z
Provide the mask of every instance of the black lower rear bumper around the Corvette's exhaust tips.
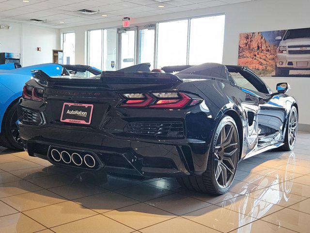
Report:
M206 169L209 151L209 145L200 140L142 141L110 137L102 132L34 127L21 123L19 130L30 156L59 164L50 158L50 147L72 151L87 150L93 152L102 163L99 169L123 175L178 177L201 174Z

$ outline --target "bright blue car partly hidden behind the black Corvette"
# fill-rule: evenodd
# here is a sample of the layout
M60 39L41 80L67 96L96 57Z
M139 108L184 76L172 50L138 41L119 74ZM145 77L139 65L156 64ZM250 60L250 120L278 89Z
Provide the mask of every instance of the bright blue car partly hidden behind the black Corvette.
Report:
M19 67L14 63L0 65L0 146L15 150L23 149L16 125L16 106L25 83L31 79L31 70L40 69L53 77L65 75L75 78L90 78L102 72L89 66L53 63Z

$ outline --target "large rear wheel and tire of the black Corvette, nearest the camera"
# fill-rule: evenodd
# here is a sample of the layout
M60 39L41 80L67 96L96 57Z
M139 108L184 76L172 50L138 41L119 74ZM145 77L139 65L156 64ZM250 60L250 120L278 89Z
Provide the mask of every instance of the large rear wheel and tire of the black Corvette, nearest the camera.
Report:
M226 193L233 183L239 150L236 123L231 116L224 115L212 138L206 171L201 176L184 176L177 178L177 181L197 192L216 195Z

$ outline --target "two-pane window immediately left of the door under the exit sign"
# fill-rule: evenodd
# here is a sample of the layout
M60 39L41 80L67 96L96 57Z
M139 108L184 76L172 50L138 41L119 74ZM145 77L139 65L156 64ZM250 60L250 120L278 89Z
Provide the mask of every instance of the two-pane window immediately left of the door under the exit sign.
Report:
M88 32L88 65L102 70L115 70L117 30L100 29Z

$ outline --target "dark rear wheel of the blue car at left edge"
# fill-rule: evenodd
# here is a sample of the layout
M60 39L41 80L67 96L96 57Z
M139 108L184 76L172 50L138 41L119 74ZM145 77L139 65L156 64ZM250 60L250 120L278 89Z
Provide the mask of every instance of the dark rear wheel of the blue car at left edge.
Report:
M9 149L23 150L20 141L17 121L17 102L11 104L2 119L0 145Z

